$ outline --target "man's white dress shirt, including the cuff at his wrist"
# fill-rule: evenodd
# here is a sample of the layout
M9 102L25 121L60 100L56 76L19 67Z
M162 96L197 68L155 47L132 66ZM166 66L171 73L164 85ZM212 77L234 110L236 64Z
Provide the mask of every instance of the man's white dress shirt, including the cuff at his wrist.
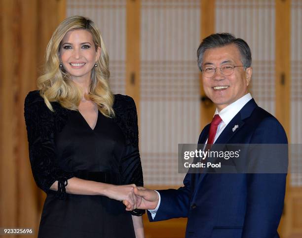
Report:
M219 123L216 131L216 135L214 137L214 143L217 140L217 138L220 136L220 134L224 131L227 124L236 116L237 113L244 107L245 104L247 104L248 101L252 99L252 96L250 93L245 94L243 97L239 98L237 101L231 103L227 107L225 107L220 112L216 108L215 114L218 114L222 121ZM213 117L214 117L213 116ZM205 144L208 142L208 139L206 140ZM154 219L156 212L158 210L158 207L160 205L160 194L155 190L155 192L158 194L158 204L155 209L148 210L151 213L152 219Z

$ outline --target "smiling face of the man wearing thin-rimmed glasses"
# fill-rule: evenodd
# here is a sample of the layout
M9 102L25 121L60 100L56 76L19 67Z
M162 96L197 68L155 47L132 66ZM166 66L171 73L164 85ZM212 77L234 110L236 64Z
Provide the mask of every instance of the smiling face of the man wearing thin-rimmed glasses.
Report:
M221 67L225 64L242 66L241 55L235 44L210 48L204 52L201 67ZM248 85L252 77L252 68L235 67L234 72L225 76L219 68L212 78L202 73L202 84L205 94L216 104L219 111L235 102L248 92Z

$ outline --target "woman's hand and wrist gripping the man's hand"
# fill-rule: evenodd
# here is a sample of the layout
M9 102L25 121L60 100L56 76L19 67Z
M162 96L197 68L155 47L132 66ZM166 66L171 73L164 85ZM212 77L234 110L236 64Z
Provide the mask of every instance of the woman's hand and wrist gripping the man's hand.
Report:
M135 184L128 185L112 185L107 184L104 189L104 195L108 198L112 198L118 201L128 201L127 209L134 210L136 209L136 195L134 194Z

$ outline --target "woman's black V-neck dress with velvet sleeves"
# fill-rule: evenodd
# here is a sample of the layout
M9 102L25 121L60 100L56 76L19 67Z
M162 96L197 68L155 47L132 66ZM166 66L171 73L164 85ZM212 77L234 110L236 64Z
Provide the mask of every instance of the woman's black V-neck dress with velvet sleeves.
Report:
M120 201L104 196L67 194L72 177L143 186L138 150L137 112L133 99L114 96L114 118L98 113L92 129L78 111L51 103L38 91L25 99L25 121L34 179L47 197L38 238L135 238L133 215ZM58 181L58 191L50 186Z

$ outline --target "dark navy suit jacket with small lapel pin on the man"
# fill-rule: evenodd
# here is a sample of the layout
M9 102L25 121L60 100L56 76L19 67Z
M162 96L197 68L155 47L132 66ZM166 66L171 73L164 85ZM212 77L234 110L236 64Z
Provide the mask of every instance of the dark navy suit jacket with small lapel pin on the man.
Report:
M209 127L202 130L198 144L205 143ZM215 143L288 142L278 120L251 99ZM287 155L284 159L288 161ZM158 191L156 216L148 216L150 221L188 217L186 238L279 238L285 184L286 173L188 173L184 187Z

